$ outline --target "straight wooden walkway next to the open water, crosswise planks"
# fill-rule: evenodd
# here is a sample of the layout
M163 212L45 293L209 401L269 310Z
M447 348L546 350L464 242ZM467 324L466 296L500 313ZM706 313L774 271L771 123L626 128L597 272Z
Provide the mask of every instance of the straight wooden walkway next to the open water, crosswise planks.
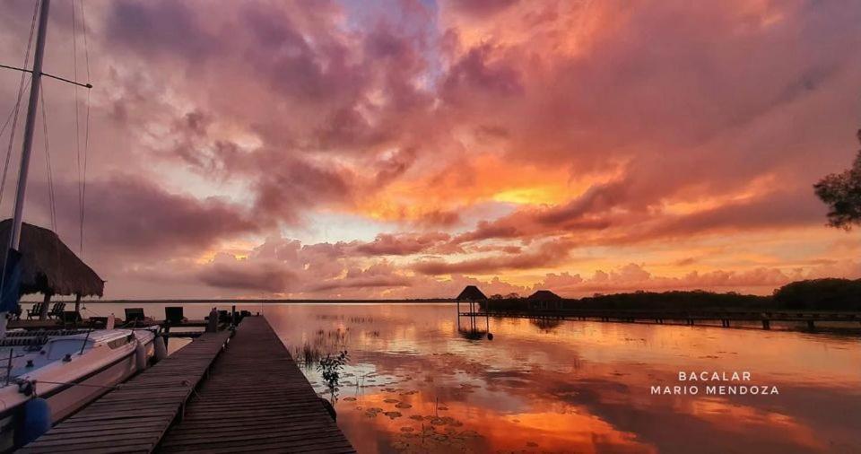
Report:
M263 317L247 317L160 452L355 452Z

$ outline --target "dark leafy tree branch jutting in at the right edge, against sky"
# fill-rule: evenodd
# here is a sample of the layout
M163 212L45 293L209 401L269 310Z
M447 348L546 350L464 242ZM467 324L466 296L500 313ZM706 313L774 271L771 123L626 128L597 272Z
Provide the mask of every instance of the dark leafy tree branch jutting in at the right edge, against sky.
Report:
M861 142L861 129L857 133ZM851 230L861 226L861 150L842 173L832 173L813 185L816 196L828 205L828 225Z

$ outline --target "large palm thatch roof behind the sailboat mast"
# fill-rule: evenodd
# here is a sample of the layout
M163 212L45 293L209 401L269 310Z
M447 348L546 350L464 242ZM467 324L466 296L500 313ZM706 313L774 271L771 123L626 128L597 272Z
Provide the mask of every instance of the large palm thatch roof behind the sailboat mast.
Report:
M12 220L0 222L0 251L8 247ZM29 223L21 227L21 293L101 296L103 281L74 255L57 233ZM2 254L0 254L2 256ZM2 264L2 258L0 258Z

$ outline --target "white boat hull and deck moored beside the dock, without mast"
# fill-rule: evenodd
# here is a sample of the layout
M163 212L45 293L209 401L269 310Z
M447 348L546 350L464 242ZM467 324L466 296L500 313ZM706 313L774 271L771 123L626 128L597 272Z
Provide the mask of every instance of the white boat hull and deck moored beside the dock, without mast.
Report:
M33 423L33 415L28 412L47 413L37 419L57 423L145 368L155 354L155 333L103 329L51 336L43 345L27 337L8 337L4 344L21 345L0 346L2 452L30 441L33 428L27 424ZM31 403L37 399L44 399L41 407Z

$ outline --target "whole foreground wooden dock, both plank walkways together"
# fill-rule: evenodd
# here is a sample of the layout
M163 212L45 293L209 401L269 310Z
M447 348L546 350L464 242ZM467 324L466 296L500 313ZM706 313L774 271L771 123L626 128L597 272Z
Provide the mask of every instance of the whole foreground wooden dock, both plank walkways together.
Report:
M19 452L355 452L265 318L231 334L203 334Z

